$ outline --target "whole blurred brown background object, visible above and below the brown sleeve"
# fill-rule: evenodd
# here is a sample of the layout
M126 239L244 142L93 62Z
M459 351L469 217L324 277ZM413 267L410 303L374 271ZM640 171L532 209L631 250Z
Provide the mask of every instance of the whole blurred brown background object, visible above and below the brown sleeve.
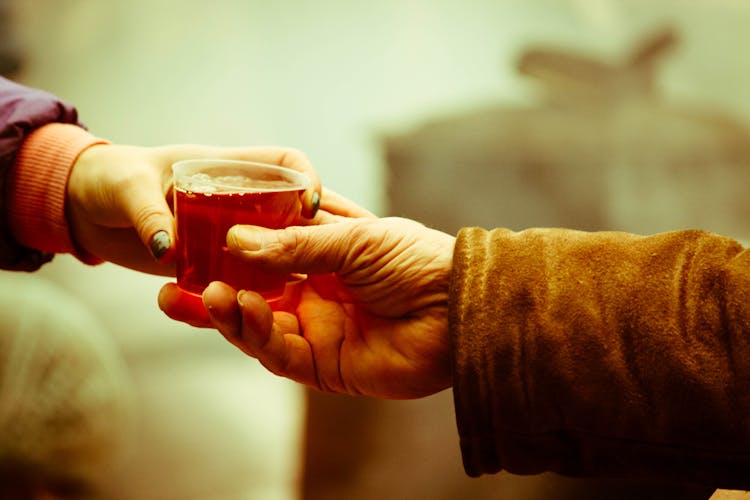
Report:
M564 226L642 233L702 227L750 234L750 132L677 105L657 69L678 34L660 29L618 61L528 48L531 106L500 103L387 137L388 213L453 233ZM304 498L707 498L685 485L554 474L470 479L450 391L417 401L309 393Z

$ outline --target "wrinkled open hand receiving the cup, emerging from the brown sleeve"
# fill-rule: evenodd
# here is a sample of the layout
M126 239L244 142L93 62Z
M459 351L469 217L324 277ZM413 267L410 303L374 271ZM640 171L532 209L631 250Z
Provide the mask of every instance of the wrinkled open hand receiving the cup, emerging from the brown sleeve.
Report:
M167 315L213 326L271 372L322 391L408 399L451 385L452 236L408 219L321 211L307 226L235 226L227 243L307 279L274 310L254 292L214 282L201 312L169 284L159 296Z

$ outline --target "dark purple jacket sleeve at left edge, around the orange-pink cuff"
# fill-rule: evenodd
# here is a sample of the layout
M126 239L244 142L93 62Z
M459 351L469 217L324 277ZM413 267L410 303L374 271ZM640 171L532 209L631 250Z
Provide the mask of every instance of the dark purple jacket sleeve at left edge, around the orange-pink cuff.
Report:
M8 172L18 150L33 130L47 123L78 123L70 104L38 89L0 77L0 268L34 271L52 259L51 254L25 248L15 241L8 226L6 191Z

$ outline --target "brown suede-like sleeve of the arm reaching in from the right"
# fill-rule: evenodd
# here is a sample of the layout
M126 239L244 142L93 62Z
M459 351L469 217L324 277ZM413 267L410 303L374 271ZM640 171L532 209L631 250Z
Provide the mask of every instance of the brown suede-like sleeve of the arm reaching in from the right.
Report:
M466 228L450 323L469 475L750 488L750 255L736 241Z

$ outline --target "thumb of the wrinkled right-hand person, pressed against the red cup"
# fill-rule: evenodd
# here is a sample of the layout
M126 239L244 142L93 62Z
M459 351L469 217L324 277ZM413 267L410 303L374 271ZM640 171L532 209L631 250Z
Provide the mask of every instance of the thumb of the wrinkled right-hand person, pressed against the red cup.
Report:
M348 223L267 229L238 225L229 229L229 251L279 273L322 274L345 271L352 250Z

